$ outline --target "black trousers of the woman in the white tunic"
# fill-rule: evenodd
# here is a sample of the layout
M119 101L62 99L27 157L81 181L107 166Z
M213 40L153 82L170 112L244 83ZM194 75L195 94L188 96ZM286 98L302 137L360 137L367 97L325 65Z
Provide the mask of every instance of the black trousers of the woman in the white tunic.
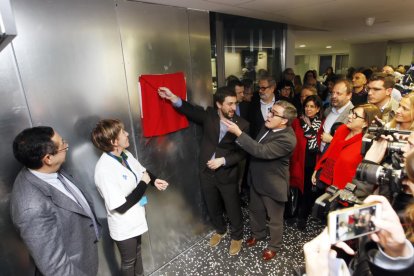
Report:
M141 236L115 243L121 253L122 276L143 276Z

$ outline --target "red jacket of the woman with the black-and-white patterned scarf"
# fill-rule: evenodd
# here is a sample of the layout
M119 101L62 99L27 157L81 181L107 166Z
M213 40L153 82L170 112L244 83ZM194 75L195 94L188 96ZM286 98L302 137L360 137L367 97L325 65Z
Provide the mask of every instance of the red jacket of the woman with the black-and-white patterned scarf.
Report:
M290 158L290 186L298 188L303 194L303 186L305 182L305 153L307 146L307 139L305 138L305 133L303 128L300 125L299 118L296 118L292 122L293 131L296 134L296 147L293 151L292 157ZM323 128L323 121L321 127ZM318 131L319 133L319 131ZM321 144L321 135L317 136L318 145Z

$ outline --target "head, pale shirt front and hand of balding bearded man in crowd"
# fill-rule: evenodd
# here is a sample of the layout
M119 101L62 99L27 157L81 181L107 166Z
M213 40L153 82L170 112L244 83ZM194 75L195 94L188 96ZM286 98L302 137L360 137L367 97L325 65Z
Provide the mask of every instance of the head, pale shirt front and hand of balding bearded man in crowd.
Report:
M332 141L330 134L332 125L337 122L346 123L348 121L349 111L354 108L351 102L352 84L349 80L338 80L331 94L331 106L325 111L325 122L323 124L323 133L321 133L321 152L324 152L326 144Z

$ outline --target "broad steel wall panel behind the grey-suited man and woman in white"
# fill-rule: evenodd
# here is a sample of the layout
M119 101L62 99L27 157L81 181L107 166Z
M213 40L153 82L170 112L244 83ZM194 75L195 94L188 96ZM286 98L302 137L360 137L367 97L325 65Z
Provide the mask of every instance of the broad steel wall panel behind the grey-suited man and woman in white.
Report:
M65 167L92 195L98 217L106 222L93 181L100 153L89 133L100 118L119 118L129 131L131 126L114 2L13 4L19 32L13 45L33 125L50 125L69 141ZM131 148L135 151L134 143ZM104 234L100 275L111 275L118 265L113 243Z

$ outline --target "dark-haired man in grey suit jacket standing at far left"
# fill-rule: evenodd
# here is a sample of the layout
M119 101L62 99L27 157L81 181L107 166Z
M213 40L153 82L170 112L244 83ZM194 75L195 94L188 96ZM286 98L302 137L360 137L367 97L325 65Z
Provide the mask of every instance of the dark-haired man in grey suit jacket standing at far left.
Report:
M25 167L13 185L11 218L36 275L96 275L100 225L92 201L60 167L69 148L51 127L23 130L13 153Z

